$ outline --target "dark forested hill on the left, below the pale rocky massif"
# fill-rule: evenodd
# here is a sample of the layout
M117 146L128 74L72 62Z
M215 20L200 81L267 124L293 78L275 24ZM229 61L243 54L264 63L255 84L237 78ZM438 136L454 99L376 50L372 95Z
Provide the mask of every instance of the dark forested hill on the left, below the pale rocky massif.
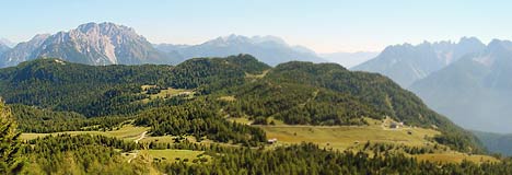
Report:
M144 84L201 91L241 84L245 72L268 69L252 56L197 58L172 66L85 66L60 59L36 59L0 70L0 95L7 103L71 110L85 116L132 113ZM208 84L208 86L206 86Z

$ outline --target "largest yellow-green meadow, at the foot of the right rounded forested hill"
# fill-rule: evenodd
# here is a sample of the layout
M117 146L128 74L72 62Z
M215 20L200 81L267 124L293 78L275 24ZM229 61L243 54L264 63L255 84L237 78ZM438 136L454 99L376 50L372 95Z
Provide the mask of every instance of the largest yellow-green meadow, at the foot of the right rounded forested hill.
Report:
M370 126L258 126L268 138L277 138L282 143L315 142L321 147L346 150L357 144L370 142L396 143L420 147L433 142L424 137L433 137L439 131L423 128L388 129L382 121L369 120ZM412 131L408 135L407 131Z

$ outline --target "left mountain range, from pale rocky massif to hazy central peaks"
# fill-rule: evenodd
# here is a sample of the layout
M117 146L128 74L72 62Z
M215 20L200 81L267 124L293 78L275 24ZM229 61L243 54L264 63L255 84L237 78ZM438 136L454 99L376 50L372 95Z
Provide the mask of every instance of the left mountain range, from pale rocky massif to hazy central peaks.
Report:
M92 66L176 65L189 58L251 54L276 66L291 60L326 62L315 51L291 46L275 36L230 35L199 45L153 45L131 27L114 23L86 23L68 32L39 34L9 48L0 45L0 67L12 67L42 57Z

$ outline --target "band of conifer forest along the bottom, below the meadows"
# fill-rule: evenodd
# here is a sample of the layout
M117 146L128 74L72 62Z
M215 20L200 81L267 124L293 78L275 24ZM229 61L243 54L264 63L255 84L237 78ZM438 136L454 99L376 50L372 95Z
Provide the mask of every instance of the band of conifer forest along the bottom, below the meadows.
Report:
M59 135L35 139L23 148L28 165L22 174L489 174L512 173L510 160L476 164L439 164L418 161L400 153L331 151L314 143L275 149L171 143L162 149L205 151L208 159L164 160L144 158L128 162L140 144L90 135ZM150 145L156 145L151 143ZM151 148L151 147L150 147ZM156 149L156 148L153 148Z

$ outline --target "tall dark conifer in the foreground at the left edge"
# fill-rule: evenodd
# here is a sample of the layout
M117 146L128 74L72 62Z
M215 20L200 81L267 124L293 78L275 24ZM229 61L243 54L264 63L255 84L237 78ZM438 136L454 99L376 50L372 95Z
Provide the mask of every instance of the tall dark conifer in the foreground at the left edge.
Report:
M23 161L18 156L21 144L16 124L9 107L0 98L0 174L15 174L21 171Z

